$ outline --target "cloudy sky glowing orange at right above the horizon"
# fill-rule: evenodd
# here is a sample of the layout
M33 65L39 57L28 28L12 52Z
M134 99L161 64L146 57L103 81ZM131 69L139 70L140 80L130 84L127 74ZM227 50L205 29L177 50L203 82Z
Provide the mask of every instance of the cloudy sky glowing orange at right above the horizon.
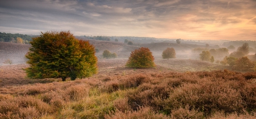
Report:
M256 40L256 0L0 0L0 32Z

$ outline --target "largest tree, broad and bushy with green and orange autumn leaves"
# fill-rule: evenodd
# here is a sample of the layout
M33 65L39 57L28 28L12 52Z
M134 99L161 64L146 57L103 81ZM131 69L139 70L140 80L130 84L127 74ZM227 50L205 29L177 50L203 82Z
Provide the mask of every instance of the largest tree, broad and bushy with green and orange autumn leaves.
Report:
M97 73L95 49L89 41L76 39L69 31L41 32L30 42L26 55L28 78L61 78L65 81Z

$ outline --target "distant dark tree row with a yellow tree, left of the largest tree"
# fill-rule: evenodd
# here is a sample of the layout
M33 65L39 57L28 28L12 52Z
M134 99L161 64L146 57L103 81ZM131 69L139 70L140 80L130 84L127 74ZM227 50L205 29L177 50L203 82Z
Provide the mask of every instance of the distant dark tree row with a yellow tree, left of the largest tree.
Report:
M10 42L10 43L24 43L29 44L33 36L29 36L27 34L11 34L0 32L0 41Z

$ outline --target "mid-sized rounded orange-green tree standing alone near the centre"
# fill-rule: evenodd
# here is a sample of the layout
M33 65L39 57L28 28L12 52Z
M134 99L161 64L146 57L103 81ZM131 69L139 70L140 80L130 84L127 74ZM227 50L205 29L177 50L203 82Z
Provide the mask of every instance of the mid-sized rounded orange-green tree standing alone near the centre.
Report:
M154 56L148 48L141 47L138 50L131 52L131 55L126 63L127 67L147 68L156 66Z

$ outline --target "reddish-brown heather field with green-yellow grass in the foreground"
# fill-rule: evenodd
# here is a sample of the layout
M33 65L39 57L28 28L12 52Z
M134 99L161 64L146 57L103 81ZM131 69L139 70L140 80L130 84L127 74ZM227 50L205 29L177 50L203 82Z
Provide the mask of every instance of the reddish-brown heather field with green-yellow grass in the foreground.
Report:
M0 118L256 118L255 72L194 59L126 62L99 58L97 74L75 81L29 80L28 64L1 64Z

